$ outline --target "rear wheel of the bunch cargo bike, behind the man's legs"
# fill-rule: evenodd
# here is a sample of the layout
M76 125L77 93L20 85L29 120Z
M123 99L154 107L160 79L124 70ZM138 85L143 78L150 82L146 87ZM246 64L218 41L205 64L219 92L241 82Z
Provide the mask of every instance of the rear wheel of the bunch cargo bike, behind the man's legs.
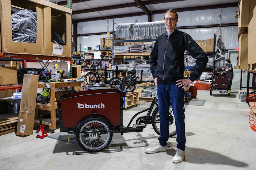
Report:
M157 134L160 135L160 115L158 112L158 107L155 108L154 112L153 112L153 117L152 117L152 121L156 122L153 123L153 129L155 130L155 132ZM170 110L169 110L169 137L172 137L174 135L176 135L176 125L175 125L175 118L173 115L173 111L172 111L172 107L170 106Z

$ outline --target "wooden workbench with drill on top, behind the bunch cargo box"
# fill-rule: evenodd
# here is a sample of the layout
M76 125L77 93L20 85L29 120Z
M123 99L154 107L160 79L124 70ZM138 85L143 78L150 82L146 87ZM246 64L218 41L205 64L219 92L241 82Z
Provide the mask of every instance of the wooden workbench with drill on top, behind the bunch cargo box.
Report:
M56 102L56 97L55 97L55 89L56 88L61 88L64 87L64 91L68 91L68 87L74 87L74 86L79 86L80 91L83 90L83 84L81 81L64 81L64 82L52 82L49 83L51 86L50 90L50 103L44 104L43 108L41 108L40 103L36 103L35 106L35 122L39 123L39 116L38 116L38 110L48 110L50 111L51 118L48 119L42 119L42 124L49 126L49 129L56 129L56 120L59 120L59 118L56 118L56 109L58 108L57 102ZM44 83L39 82L38 83L38 88L43 88Z

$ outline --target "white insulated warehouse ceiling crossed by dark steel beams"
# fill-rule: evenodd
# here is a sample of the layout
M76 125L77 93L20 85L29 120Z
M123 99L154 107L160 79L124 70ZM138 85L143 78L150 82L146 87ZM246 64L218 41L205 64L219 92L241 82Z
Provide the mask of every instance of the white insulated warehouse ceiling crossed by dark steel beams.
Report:
M57 4L67 7L66 0L50 0L50 2L58 2ZM72 0L72 19L78 22L93 21L99 20L99 17L110 19L121 15L122 17L147 15L147 12L157 14L157 11L163 14L163 11L168 9L182 10L193 7L201 7L203 10L205 6L217 5L221 8L222 5L229 3L237 3L237 0Z

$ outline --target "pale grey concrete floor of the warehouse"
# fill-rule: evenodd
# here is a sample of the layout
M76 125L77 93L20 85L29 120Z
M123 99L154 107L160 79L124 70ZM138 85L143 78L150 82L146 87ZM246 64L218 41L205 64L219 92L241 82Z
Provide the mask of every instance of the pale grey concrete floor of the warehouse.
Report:
M149 125L143 132L114 134L109 147L89 153L75 143L50 137L36 138L36 131L27 137L9 133L0 137L1 169L256 169L256 132L249 125L249 106L238 99L238 89L231 95L219 91L197 91L204 106L185 105L186 158L172 163L176 136L169 138L166 152L146 154L145 149L158 143L158 135ZM124 110L125 125L134 113L150 106ZM46 127L47 129L47 127ZM48 135L55 133L47 130ZM63 132L63 135L67 134ZM62 134L61 134L62 135Z

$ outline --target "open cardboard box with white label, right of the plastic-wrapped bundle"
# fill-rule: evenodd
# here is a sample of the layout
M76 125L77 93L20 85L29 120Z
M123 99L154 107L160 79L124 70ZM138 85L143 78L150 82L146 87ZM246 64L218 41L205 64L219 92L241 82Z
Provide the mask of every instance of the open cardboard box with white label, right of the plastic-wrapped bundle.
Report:
M52 31L62 38L65 45L52 42ZM71 14L43 8L43 55L71 57Z

